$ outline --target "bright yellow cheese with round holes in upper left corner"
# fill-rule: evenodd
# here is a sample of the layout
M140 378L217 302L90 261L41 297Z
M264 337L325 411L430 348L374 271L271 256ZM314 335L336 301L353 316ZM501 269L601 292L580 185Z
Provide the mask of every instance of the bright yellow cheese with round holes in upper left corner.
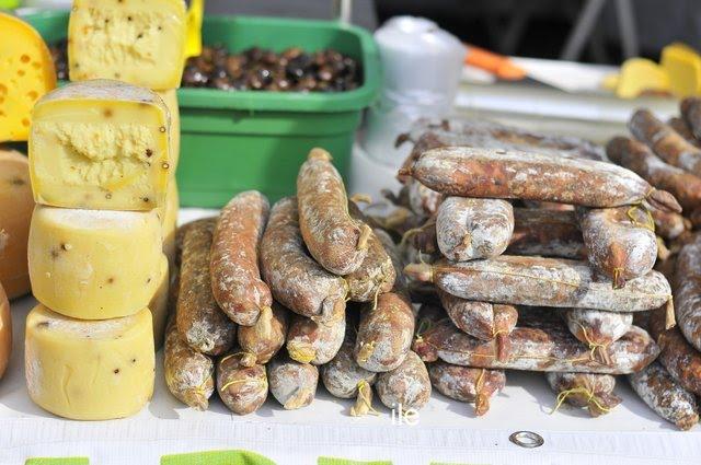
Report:
M55 88L54 60L42 36L0 13L0 142L26 140L34 103Z

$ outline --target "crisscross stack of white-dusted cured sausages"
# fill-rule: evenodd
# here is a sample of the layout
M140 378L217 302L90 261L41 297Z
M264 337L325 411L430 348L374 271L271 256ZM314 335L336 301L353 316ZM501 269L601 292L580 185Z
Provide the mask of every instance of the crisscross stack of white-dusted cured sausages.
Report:
M590 142L491 123L420 121L406 141L403 188L366 213L402 237L423 302L413 349L434 387L482 415L505 370L539 371L560 402L610 411L614 375L635 379L660 352L633 319L655 311L674 326L653 269L668 252L655 223L681 212L669 186Z

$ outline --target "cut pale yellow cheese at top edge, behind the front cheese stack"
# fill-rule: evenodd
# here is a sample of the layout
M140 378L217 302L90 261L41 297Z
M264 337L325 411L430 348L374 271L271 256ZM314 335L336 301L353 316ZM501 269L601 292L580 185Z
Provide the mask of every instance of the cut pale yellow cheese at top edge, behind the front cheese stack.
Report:
M70 80L180 88L185 33L183 0L74 0L68 26Z

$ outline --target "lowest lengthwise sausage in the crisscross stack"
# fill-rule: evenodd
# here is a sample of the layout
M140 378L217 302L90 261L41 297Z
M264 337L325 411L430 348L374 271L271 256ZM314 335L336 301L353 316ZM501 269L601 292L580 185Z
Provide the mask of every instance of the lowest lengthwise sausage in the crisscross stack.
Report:
M509 335L512 356L506 362L496 359L495 341L473 338L457 328L445 328L438 336L432 335L430 344L441 360L473 368L627 374L643 369L659 354L650 335L636 326L609 346L610 363L591 357L587 346L562 323L552 321L517 326Z

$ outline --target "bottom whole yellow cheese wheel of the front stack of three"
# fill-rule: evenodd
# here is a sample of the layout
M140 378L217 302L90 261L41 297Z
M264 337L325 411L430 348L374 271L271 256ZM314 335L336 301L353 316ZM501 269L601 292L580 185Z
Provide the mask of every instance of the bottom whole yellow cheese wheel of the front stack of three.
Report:
M138 412L153 394L151 314L74 319L39 304L26 317L24 365L36 405L74 420Z

